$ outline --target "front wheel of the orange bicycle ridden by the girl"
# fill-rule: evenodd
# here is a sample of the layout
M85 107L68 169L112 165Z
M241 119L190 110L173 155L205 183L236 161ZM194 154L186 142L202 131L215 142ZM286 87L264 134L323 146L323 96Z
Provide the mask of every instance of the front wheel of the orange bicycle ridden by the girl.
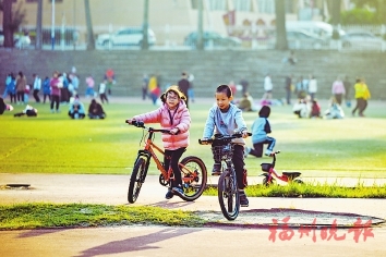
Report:
M147 169L147 159L144 157L140 157L134 163L133 172L131 173L130 178L128 192L128 200L130 204L134 204L135 200L138 198L142 184L145 182Z

